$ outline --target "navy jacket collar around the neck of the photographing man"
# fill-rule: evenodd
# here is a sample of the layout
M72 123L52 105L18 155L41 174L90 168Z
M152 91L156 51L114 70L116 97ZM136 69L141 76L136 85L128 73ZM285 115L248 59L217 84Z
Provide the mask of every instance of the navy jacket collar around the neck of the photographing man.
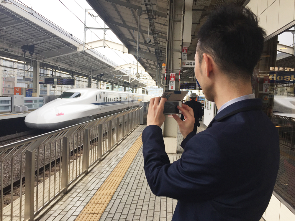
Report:
M262 110L262 100L261 99L247 99L235 102L223 110L221 110L214 119L210 122L208 127L210 127L213 121L222 121L224 118L235 115L237 113L248 111L248 110ZM207 128L208 128L207 127Z

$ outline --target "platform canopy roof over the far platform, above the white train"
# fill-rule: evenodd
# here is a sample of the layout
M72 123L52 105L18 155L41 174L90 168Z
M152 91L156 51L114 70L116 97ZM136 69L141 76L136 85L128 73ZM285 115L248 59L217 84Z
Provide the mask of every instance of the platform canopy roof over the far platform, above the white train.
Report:
M83 46L83 42L30 8L13 0L1 1L0 56L23 61L24 45L35 45L32 58L40 61L40 66L43 67L60 68L61 71L74 75L93 76L93 79L132 88L140 88L146 84L140 79L132 78L129 84L129 72L95 50L96 47L104 46L104 42L96 41ZM122 44L107 42L107 45L128 53L128 49ZM29 62L29 52L25 55ZM114 78L114 75L120 77Z

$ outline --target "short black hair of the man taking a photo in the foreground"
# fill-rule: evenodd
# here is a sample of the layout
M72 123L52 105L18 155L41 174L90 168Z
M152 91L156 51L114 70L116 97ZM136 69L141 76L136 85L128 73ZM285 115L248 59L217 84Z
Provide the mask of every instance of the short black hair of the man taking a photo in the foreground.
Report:
M260 59L265 36L250 9L224 4L212 11L198 32L199 63L202 54L207 53L232 80L250 79Z

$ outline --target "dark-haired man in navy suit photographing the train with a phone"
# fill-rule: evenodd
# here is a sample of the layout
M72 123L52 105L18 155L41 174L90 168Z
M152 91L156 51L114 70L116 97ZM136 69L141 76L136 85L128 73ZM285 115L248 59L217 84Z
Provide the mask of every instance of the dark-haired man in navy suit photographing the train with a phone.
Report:
M265 32L249 10L233 4L213 11L198 32L195 75L219 112L195 134L193 110L173 115L184 137L170 163L160 126L165 98L152 98L142 133L145 175L156 196L178 199L173 221L259 221L279 166L278 131L255 99L251 75Z

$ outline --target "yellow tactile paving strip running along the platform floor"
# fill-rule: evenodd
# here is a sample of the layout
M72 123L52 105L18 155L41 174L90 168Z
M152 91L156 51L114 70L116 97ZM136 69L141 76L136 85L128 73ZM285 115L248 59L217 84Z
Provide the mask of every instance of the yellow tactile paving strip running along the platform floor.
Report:
M94 196L90 199L88 204L84 207L81 213L76 218L76 221L98 221L103 214L106 206L111 201L116 189L119 187L123 177L128 168L134 160L137 152L142 145L141 134L130 147L127 153L123 156L121 161L109 174L106 180L101 184Z

